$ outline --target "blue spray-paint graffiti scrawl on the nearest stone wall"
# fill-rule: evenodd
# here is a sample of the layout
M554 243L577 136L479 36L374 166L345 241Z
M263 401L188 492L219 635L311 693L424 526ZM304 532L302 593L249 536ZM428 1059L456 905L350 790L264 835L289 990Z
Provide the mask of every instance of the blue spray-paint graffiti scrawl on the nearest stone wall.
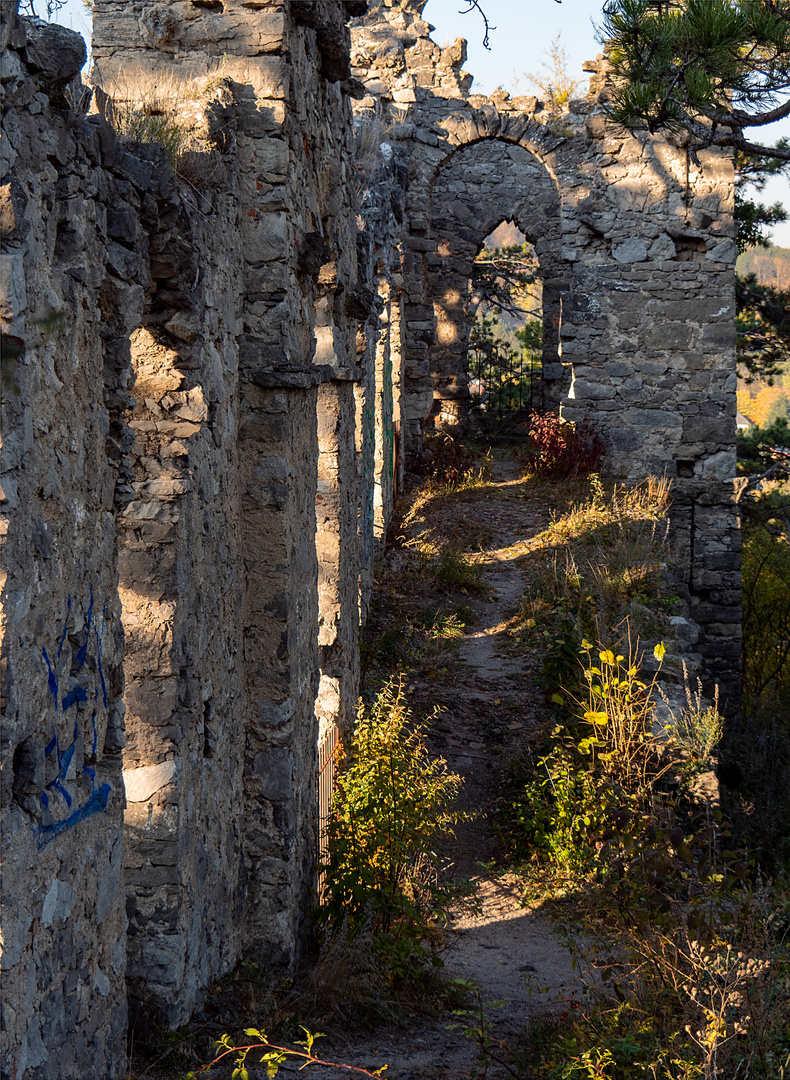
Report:
M93 687L93 700L98 702L98 691L102 690L102 701L104 707L107 707L107 684L104 677L104 669L102 666L102 637L105 625L105 620L107 616L107 605L105 604L102 610L101 617L101 629L99 620L95 617L94 600L93 600L93 589L91 589L90 603L88 606L88 612L85 615L84 622L84 640L80 648L78 649L76 656L73 657L71 664L71 686L65 691L63 697L61 697L61 688L57 678L57 669L61 660L61 654L63 652L63 647L66 642L66 635L68 632L68 623L71 617L71 597L69 596L66 605L66 618L63 623L63 632L61 634L61 639L57 646L57 653L55 656L54 664L53 661L48 656L46 649L41 649L41 654L46 665L46 680L48 690L52 694L52 700L55 706L55 712L58 711L66 714L70 708L79 708L80 704L85 704L89 701L89 691L82 685L84 681L78 681L75 676L80 675L88 662L89 646L92 642L95 643L95 656L92 657L94 661L93 666L95 666L96 675L98 676L98 683ZM96 750L98 746L98 730L96 728L96 710L93 710L91 716L91 725L93 728L93 739L91 741L91 755L95 757ZM57 793L66 804L66 808L71 810L73 802L72 793L68 789L68 771L71 768L73 761L75 752L77 750L77 743L79 740L79 720L75 720L72 738L70 744L66 748L61 747L61 742L57 733L53 735L51 741L44 747L45 758L51 758L53 755L56 757L57 765L57 775L54 780L50 781L45 789L41 792L39 796L41 806L45 812L50 810L50 806L53 800L53 796ZM69 828L73 828L75 825L79 825L80 822L86 821L89 818L93 816L95 813L101 813L107 809L107 804L109 801L109 795L112 791L110 784L103 783L96 784L96 771L88 765L83 765L81 768L82 775L86 777L91 784L91 793L88 799L80 806L76 807L71 812L61 821L49 822L48 824L39 823L38 835L39 835L39 849L43 848L46 843L53 840L56 836L65 833ZM75 779L73 777L71 779ZM45 814L50 816L49 813Z

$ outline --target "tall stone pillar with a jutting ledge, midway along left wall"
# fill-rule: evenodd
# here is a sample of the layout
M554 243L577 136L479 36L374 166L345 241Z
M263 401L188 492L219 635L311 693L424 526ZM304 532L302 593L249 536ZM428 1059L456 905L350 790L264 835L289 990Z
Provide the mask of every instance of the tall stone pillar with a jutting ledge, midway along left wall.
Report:
M316 865L319 388L345 380L353 360L356 322L349 325L345 305L357 276L357 230L350 108L340 85L349 73L345 9L322 0L272 10L279 40L266 54L251 49L238 104L244 852L253 951L267 964L292 964L308 929ZM340 428L352 430L348 391L326 393L337 394ZM347 436L338 431L337 438L343 491ZM348 683L344 676L342 697Z

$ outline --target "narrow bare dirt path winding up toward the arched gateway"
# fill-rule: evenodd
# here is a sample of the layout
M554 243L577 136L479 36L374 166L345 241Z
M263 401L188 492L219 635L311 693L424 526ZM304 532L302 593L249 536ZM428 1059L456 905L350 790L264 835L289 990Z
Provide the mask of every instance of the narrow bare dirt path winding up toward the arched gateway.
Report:
M494 829L494 804L501 791L508 760L539 723L543 692L533 673L536 661L508 652L507 626L517 616L524 589L515 558L522 542L543 529L546 515L523 501L512 462L495 462L494 484L485 501L445 510L463 516L467 531L484 528L486 542L472 558L483 571L486 594L469 600L474 622L466 627L457 659L434 677L415 676L410 691L426 711L440 704L431 748L447 759L465 780L464 804L478 811L459 827L452 855L455 874L476 882L479 910L453 915L445 956L448 974L480 988L494 1040L509 1048L539 1014L562 1013L578 995L568 951L537 913L521 904L518 880L490 868L499 846ZM452 521L444 523L452 531ZM388 555L397 558L397 553ZM388 1066L392 1080L465 1080L478 1066L477 1049L460 1031L448 1030L453 1017L418 1022L407 1030L377 1038L335 1043L333 1053L367 1068ZM326 1048L329 1049L329 1047ZM344 1074L327 1072L335 1080ZM349 1076L350 1074L345 1074ZM494 1078L507 1075L494 1065Z

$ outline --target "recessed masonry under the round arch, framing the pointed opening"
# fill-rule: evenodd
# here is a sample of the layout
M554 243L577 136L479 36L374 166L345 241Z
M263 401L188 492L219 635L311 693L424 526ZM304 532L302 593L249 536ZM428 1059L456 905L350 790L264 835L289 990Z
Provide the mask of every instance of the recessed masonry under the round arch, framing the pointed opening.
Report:
M430 212L436 248L426 259L426 301L436 318L428 353L434 409L441 402L456 422L466 418L469 279L484 239L503 220L513 221L535 246L544 286L546 400L558 405L564 389L561 302L570 275L561 255L560 195L548 170L531 150L501 138L463 146L436 172Z

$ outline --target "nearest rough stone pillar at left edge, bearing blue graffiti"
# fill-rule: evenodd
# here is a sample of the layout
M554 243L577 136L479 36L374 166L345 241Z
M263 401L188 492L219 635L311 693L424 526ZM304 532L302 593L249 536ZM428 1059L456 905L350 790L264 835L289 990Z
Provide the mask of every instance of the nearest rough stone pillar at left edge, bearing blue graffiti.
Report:
M115 140L69 113L81 38L3 4L0 80L0 1071L123 1075L124 336L106 246ZM29 68L28 68L29 64ZM103 310L112 293L113 319ZM119 342L119 338L121 339Z

